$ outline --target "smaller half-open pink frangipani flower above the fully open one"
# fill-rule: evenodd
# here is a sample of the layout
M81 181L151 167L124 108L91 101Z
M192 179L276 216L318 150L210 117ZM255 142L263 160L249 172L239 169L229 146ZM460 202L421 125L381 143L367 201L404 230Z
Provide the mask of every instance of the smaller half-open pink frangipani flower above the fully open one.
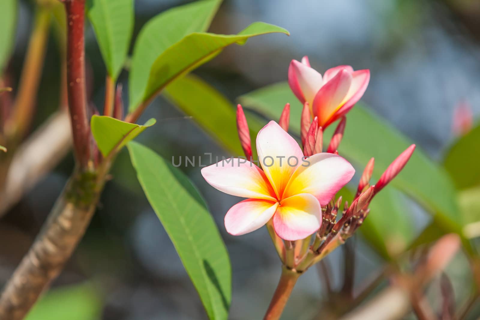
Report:
M310 67L308 57L292 60L288 68L288 84L301 103L308 102L318 125L326 128L343 117L357 103L370 81L370 70L353 71L351 66L338 66L324 76Z

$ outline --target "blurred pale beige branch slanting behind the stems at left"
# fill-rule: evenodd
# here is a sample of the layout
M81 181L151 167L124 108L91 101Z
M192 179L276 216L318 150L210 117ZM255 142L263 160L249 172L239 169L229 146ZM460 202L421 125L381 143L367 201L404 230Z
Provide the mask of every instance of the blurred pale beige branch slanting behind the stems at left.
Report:
M68 111L62 110L19 147L9 167L4 192L0 194L0 217L59 163L71 143Z

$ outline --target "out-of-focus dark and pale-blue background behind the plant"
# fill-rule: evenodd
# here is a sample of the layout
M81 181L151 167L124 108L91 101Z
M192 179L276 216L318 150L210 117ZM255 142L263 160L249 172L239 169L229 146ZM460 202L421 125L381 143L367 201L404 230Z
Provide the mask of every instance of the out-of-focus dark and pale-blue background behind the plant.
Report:
M15 51L9 66L14 81L21 71L33 19L32 3L20 2ZM187 2L136 0L134 36L152 16ZM456 108L468 105L474 116L480 112L478 0L225 0L210 31L237 33L255 21L282 26L291 35L261 36L245 46L228 47L194 72L225 94L232 106L239 95L286 81L290 60L308 55L312 67L322 73L339 64L370 69L371 81L362 101L436 160L455 138L452 119ZM87 28L86 46L92 100L101 106L105 67L91 27ZM59 59L52 36L37 99L36 125L58 106ZM127 88L125 71L120 82ZM127 98L125 95L125 105ZM161 96L142 118L151 117L157 119L157 125L139 141L167 158L204 152L229 155ZM38 233L72 166L69 154L1 218L0 283L8 279ZM182 169L204 196L227 244L233 273L230 319L260 319L280 274L280 262L266 229L242 237L228 235L223 216L239 199L207 185L200 168ZM146 201L125 151L112 175L114 179L107 184L86 236L55 286L89 280L101 309L100 319L206 319L200 299ZM429 218L414 205L411 211L420 230ZM355 284L361 285L381 270L383 261L361 235L349 241L356 249ZM342 283L342 249L327 258L325 267L335 289ZM466 284L471 281L466 258L458 255L451 267L449 276L456 300L463 301L468 296ZM321 314L325 286L320 273L313 267L300 278L284 319L316 319ZM476 316L480 316L479 308L477 311ZM476 319L475 312L472 314L471 319ZM414 319L413 315L409 317Z

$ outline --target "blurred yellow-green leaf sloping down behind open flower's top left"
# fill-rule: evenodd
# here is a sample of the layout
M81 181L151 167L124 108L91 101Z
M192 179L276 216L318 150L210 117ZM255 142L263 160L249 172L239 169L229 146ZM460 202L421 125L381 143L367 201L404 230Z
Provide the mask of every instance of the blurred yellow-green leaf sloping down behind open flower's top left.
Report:
M188 74L170 83L163 94L183 112L191 115L200 127L229 152L243 155L237 132L236 109L214 87L199 77ZM248 123L254 140L264 124L252 117L248 118Z

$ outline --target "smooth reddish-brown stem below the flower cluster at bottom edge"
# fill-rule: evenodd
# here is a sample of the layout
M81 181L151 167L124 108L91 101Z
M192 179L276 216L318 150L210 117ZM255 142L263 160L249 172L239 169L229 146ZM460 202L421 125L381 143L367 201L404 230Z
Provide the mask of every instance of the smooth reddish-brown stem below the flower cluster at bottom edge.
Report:
M272 301L270 302L267 312L265 313L264 320L280 319L283 309L287 304L288 298L290 297L293 287L297 283L300 274L301 273L298 273L295 270L291 270L285 266L282 266L282 275L280 276L280 281L276 286Z

